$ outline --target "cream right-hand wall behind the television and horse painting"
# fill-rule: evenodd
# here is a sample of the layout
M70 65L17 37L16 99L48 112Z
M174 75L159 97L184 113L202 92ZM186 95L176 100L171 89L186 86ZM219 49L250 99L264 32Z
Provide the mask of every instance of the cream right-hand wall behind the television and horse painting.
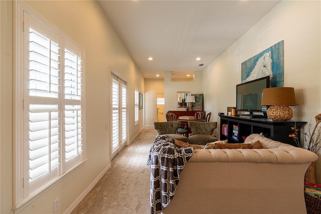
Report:
M321 113L320 1L283 1L204 69L205 111L214 117L235 106L240 63L284 40L284 86L294 87L293 120L309 122ZM321 183L321 160L316 164Z

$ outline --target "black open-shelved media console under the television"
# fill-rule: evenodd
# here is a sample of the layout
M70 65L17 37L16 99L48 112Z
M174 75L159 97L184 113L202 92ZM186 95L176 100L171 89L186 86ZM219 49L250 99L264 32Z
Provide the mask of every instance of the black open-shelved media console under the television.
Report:
M220 140L228 140L229 143L243 143L243 137L250 134L262 133L265 137L281 143L297 146L289 134L293 133L291 127L296 126L299 130L306 124L300 121L272 121L267 118L243 118L237 116L220 116ZM224 134L223 124L226 124L227 136ZM226 131L225 129L225 131ZM233 137L234 136L234 137ZM300 139L300 132L298 132Z

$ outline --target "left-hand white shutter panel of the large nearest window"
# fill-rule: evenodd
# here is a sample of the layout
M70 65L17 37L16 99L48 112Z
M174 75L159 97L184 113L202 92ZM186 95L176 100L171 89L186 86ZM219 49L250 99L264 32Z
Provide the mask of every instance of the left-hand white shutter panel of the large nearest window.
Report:
M60 154L60 48L59 36L24 14L26 66L24 79L24 196L59 175ZM27 131L28 129L28 131ZM26 160L28 159L28 160Z

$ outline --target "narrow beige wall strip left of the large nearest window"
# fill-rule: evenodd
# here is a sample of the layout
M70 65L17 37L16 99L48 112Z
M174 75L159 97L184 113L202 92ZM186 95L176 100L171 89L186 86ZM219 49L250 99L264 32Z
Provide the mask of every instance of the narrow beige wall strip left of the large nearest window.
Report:
M12 207L12 92L13 92L13 34L12 34L12 4L10 2L0 1L1 4L1 37L0 37L0 164L1 164L1 183L0 183L0 203L1 213L10 213Z

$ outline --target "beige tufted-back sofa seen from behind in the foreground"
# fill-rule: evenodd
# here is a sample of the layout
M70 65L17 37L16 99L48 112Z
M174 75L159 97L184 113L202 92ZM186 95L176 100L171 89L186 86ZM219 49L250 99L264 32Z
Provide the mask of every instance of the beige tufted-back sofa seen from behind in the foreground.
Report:
M196 149L163 213L306 213L303 177L317 155L258 134L264 149Z

